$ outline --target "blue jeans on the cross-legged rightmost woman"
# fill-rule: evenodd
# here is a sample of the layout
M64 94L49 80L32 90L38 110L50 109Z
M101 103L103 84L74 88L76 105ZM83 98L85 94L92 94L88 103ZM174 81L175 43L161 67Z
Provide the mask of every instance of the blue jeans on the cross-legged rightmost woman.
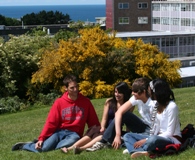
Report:
M140 148L135 149L134 143L145 138L148 138L148 140ZM155 151L156 148L163 149L166 145L174 143L169 138L164 138L157 135L148 136L146 134L144 135L138 133L126 133L123 139L129 153L133 153L137 151L152 152Z

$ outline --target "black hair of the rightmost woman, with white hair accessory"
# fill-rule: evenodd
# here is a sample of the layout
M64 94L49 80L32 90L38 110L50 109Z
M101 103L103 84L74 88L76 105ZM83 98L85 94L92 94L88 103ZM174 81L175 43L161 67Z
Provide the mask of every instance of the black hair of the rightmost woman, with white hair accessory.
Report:
M169 101L175 101L174 93L165 80L157 78L151 81L150 88L159 104L166 106Z

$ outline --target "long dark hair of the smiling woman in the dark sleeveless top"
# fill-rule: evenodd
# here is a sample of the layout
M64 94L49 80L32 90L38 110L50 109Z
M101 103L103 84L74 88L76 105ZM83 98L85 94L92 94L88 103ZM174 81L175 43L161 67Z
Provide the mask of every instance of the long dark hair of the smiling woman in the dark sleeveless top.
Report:
M124 103L128 101L131 96L131 89L129 88L126 82L119 82L114 87L113 97L108 101L108 103L109 103L110 108L112 108L116 112L117 111L117 100L115 97L115 89L117 89L119 93L122 93L124 95L124 99L123 99Z

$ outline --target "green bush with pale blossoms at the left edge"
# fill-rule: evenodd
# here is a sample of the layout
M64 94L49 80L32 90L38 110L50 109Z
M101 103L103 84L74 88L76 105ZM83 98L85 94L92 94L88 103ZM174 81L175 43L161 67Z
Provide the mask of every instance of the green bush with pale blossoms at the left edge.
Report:
M41 49L44 49L51 38L46 36L10 36L9 41L0 46L0 97L17 95L27 98L30 79L38 69Z

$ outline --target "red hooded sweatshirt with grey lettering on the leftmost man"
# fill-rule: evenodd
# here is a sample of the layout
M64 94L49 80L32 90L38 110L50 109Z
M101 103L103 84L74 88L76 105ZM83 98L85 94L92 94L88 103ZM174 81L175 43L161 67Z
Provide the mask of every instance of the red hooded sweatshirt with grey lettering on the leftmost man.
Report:
M91 101L80 93L77 100L71 100L65 92L51 107L38 139L44 141L59 129L74 131L82 137L86 123L88 127L100 125Z

